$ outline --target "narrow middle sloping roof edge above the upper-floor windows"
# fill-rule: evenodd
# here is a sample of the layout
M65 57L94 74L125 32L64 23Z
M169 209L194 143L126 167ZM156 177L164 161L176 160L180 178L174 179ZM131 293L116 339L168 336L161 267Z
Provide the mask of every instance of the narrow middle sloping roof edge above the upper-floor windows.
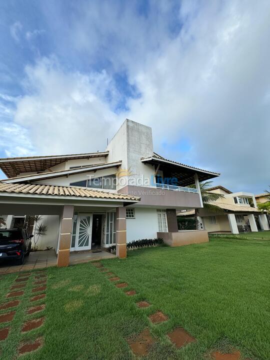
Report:
M104 162L104 163L100 163L100 164L82 166L82 167L72 168L72 169L68 169L68 170L57 170L57 171L42 172L39 174L30 174L30 175L10 177L8 179L2 179L2 180L0 180L0 182L15 183L15 182L21 182L21 181L42 180L45 178L66 176L66 175L72 175L72 174L76 174L76 173L88 172L91 170L115 167L115 166L119 166L121 163L122 163L122 161Z

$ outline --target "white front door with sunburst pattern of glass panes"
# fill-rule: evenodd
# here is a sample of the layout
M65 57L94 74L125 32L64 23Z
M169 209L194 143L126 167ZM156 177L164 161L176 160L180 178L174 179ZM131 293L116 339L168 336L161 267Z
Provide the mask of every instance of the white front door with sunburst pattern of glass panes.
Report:
M92 235L92 214L78 214L75 250L90 250Z

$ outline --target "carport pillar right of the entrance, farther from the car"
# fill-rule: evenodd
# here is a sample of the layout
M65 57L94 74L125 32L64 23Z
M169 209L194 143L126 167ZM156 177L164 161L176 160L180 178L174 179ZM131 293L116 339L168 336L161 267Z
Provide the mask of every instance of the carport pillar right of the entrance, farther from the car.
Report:
M125 207L116 207L116 256L126 257L126 219Z

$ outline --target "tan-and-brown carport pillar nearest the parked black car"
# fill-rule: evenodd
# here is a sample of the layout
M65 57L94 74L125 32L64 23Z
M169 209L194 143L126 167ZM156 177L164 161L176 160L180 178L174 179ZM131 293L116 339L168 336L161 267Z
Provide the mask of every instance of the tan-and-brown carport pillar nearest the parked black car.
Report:
M57 266L68 266L69 264L69 251L73 223L73 205L64 205L59 234L59 246L57 255Z

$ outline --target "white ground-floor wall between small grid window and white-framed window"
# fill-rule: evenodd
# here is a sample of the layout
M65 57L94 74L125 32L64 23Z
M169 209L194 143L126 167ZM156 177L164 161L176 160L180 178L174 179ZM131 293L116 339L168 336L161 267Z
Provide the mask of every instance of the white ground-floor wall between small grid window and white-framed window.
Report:
M136 207L135 218L126 219L127 242L142 238L155 238L157 231L156 208Z

